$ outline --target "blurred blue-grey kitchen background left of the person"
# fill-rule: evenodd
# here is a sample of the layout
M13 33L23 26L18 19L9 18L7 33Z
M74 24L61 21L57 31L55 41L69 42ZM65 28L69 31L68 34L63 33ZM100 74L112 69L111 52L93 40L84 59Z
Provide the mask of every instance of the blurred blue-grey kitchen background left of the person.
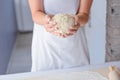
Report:
M0 74L30 71L32 30L27 0L0 1Z

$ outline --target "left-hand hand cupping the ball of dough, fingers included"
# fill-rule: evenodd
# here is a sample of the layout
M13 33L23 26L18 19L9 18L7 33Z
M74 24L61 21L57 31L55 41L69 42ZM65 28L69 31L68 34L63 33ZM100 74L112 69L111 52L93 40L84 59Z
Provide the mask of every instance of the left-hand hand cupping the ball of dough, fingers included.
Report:
M46 20L46 23L44 24L45 29L46 29L47 32L49 32L53 35L63 37L63 35L57 29L57 23L52 21L53 16L54 15L46 15L45 16L45 20Z

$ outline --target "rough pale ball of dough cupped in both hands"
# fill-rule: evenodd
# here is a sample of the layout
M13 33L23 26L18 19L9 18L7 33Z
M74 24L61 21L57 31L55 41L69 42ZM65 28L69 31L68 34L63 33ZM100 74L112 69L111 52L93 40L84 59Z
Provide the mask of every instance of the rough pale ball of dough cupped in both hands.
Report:
M53 21L57 23L58 30L65 34L68 30L74 25L74 18L68 14L56 14L53 18Z

